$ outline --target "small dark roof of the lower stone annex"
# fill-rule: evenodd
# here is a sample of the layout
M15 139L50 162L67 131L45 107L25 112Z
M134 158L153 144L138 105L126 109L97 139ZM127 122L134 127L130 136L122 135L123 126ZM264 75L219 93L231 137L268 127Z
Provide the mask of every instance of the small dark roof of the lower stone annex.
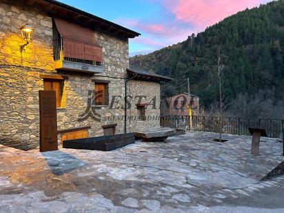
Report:
M133 77L136 80L141 80L141 81L172 81L172 78L165 77L161 74L155 74L153 72L148 72L145 70L137 70L133 68L128 68L127 69L128 74L130 77Z

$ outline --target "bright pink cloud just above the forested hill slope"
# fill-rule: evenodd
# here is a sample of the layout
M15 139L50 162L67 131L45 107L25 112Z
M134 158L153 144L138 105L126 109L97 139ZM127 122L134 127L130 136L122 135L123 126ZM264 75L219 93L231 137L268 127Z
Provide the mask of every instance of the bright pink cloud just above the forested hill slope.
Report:
M172 10L176 21L192 23L197 28L212 26L230 15L253 8L263 3L261 0L178 0L165 1L165 7Z

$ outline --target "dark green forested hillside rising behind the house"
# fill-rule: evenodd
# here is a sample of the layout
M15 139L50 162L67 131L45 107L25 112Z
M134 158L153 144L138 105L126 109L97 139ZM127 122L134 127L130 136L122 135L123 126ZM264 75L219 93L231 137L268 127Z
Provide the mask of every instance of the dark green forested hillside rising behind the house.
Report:
M217 50L221 51L223 92L238 116L283 117L284 0L244 10L186 41L130 59L134 68L152 70L175 81L164 95L190 78L192 93L208 110L218 101Z

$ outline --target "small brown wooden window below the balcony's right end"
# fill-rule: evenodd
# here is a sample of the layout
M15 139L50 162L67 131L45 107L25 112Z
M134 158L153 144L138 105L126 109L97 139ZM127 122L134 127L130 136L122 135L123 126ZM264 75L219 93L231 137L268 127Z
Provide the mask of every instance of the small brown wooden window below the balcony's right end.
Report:
M94 104L108 105L108 83L94 83Z

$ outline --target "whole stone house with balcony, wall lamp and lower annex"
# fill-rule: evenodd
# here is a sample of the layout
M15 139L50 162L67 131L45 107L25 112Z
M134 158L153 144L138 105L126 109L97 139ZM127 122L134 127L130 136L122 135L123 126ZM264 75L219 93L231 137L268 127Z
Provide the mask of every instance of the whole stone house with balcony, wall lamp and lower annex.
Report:
M1 0L0 143L39 146L39 90L56 92L59 141L159 126L146 118L160 115L160 82L171 79L129 68L139 35L59 1Z

